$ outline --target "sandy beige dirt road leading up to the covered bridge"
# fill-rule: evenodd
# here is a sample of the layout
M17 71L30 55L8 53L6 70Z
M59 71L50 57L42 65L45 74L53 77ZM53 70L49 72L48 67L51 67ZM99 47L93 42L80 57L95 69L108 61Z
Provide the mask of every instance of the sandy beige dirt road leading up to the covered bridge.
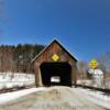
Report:
M81 91L51 87L0 106L0 110L109 110L94 103Z

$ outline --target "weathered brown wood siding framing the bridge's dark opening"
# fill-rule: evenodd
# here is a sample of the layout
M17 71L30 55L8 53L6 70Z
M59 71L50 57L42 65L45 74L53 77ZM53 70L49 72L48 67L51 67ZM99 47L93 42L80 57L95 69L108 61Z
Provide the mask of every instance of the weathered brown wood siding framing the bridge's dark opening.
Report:
M35 61L34 61L34 72L36 85L41 86L41 73L40 65L44 62L54 62L52 56L57 54L59 59L57 62L67 62L72 66L72 80L76 80L76 61L72 58L56 42L50 45Z

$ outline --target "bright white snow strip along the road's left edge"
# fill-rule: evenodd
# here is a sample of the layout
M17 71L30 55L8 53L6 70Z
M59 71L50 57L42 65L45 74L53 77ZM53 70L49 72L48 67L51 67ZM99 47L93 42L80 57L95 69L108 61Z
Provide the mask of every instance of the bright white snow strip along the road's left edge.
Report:
M35 91L42 91L45 88L31 88L31 89L24 89L24 90L19 90L13 92L0 94L0 105L15 100L18 98L21 98L25 95L33 94Z

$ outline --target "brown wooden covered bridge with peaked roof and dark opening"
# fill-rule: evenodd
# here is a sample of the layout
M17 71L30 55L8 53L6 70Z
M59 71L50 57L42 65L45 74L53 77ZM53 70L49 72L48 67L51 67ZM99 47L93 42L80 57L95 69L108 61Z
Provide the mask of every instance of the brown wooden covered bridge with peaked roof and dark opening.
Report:
M77 59L54 40L32 59L36 86L76 84Z

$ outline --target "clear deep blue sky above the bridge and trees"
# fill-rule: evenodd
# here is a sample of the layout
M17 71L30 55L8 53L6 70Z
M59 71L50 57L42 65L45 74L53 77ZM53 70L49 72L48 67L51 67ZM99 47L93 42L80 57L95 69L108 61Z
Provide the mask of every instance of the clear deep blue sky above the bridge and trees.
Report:
M58 38L78 59L110 52L110 0L4 0L0 44Z

